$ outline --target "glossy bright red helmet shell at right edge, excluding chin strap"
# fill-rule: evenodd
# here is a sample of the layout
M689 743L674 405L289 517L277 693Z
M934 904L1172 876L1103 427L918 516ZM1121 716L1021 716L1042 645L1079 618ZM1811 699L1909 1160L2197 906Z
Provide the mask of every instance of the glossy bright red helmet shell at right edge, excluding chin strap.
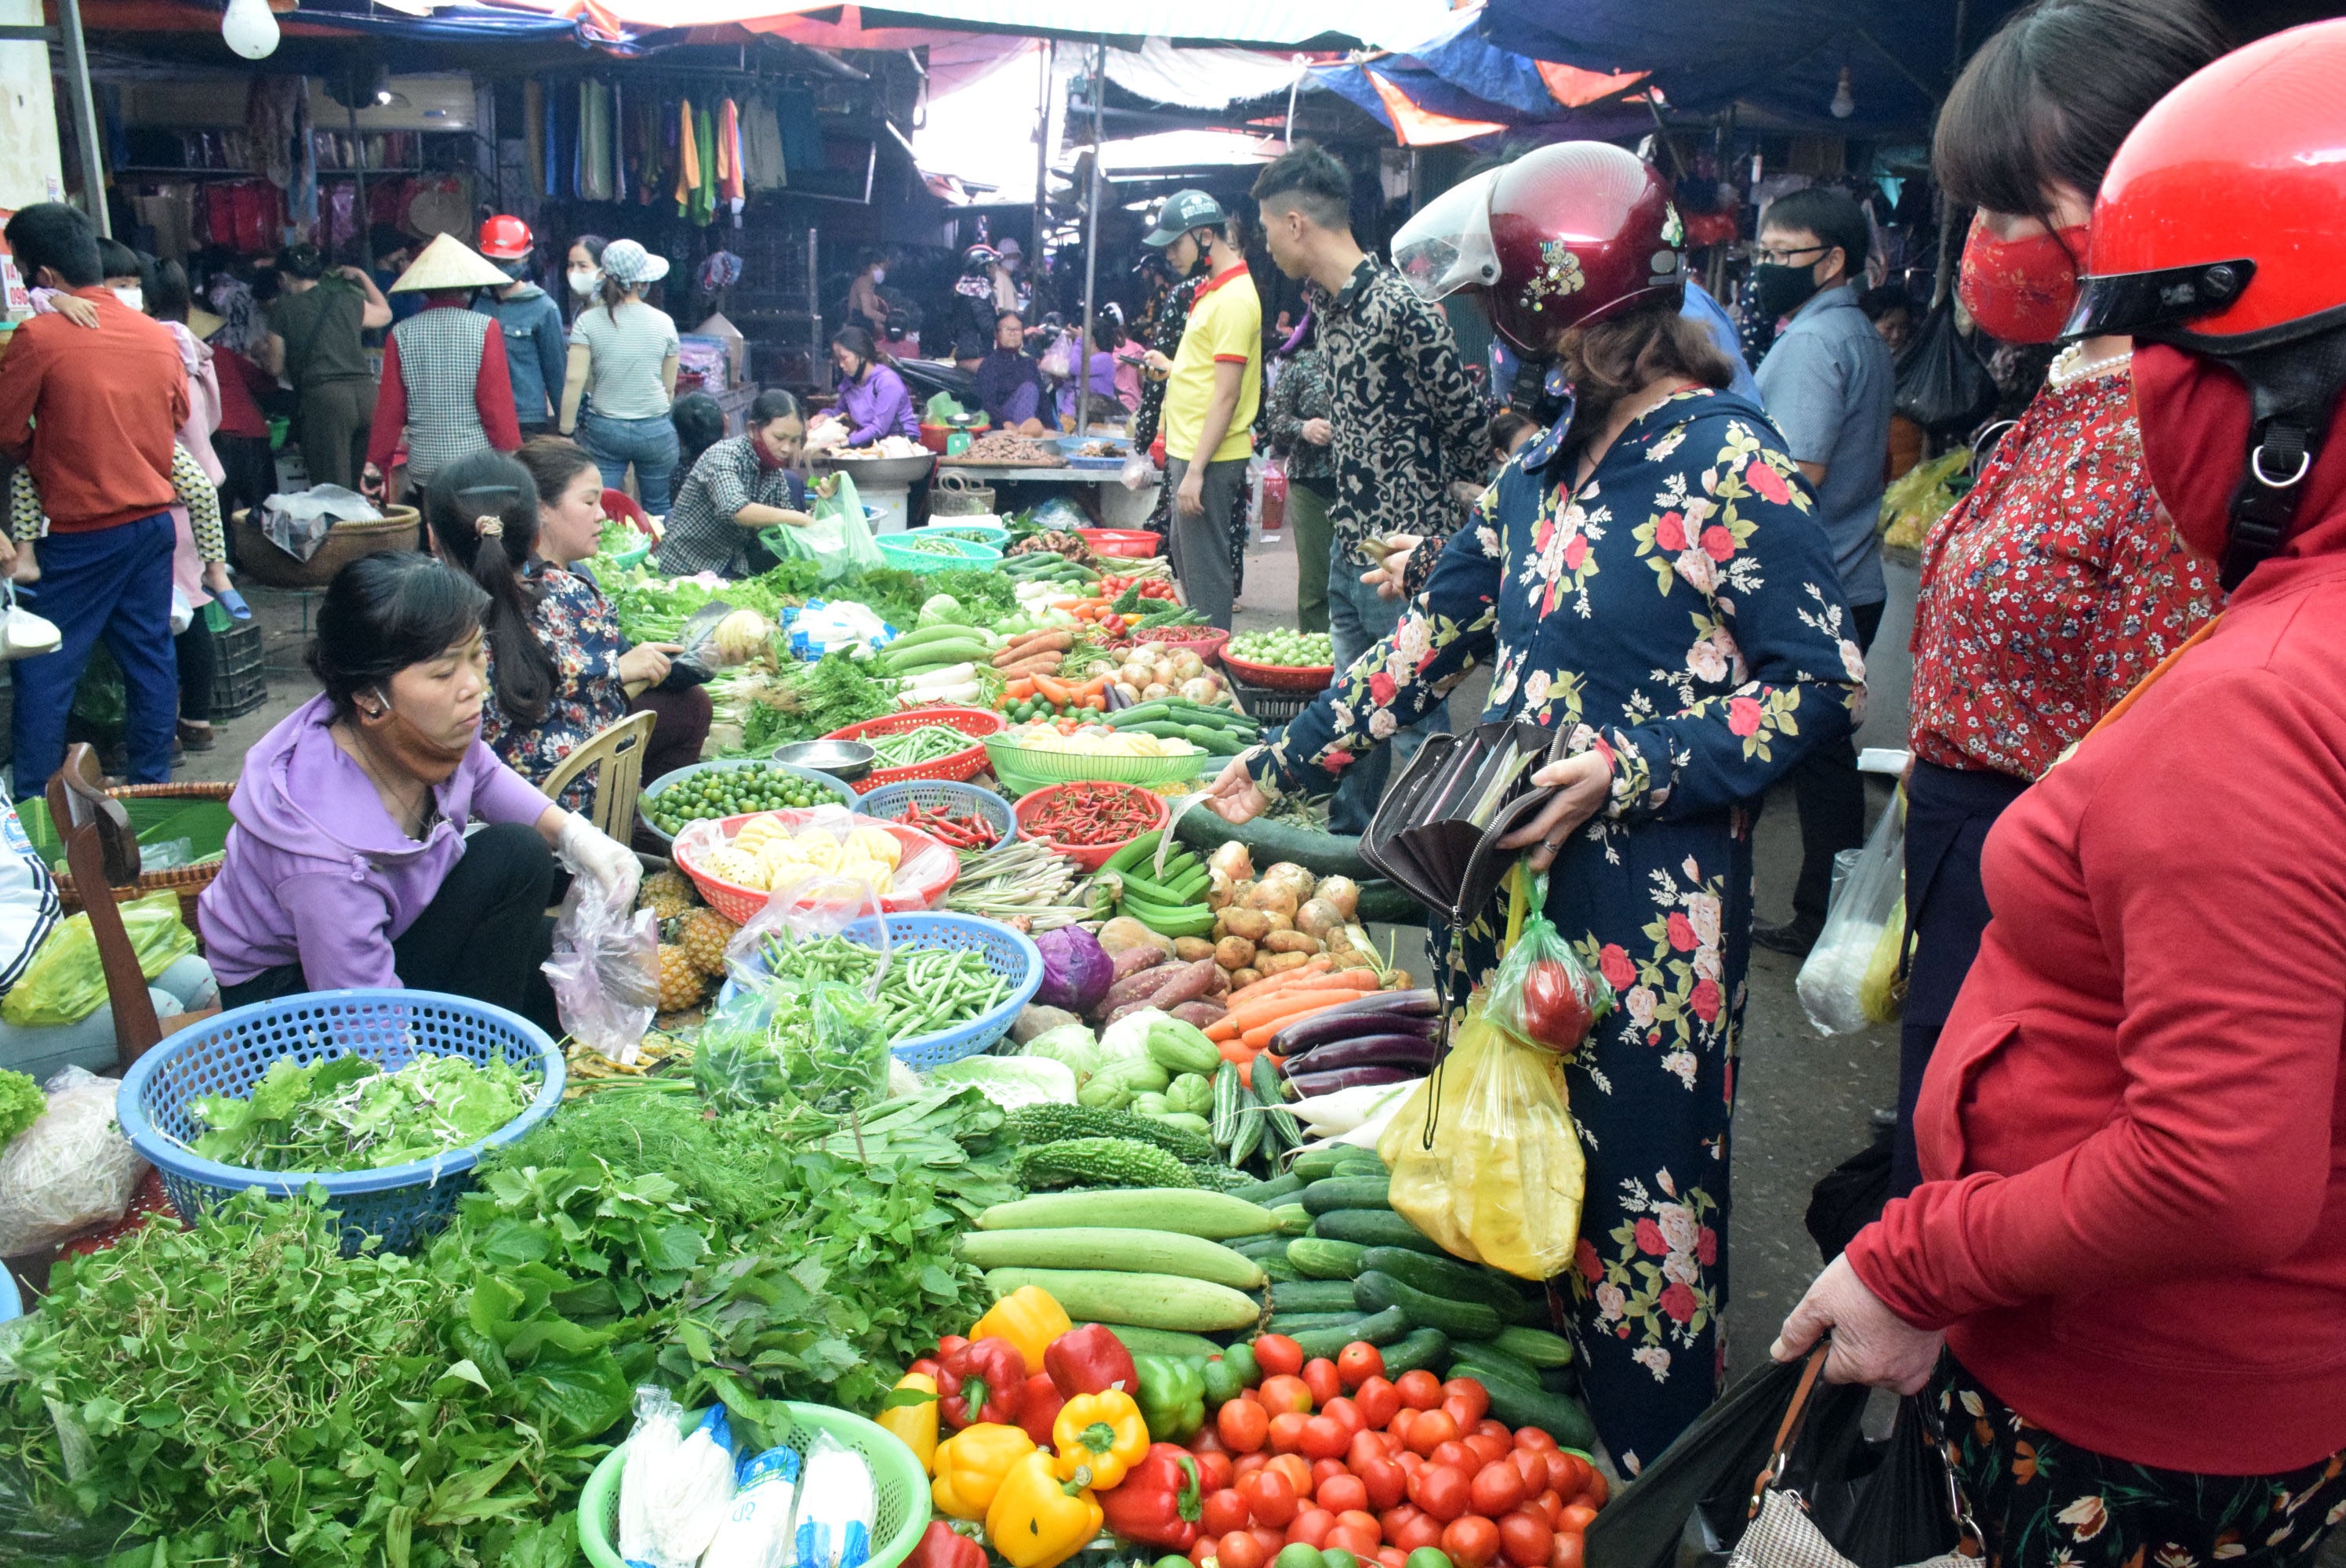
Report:
M2247 350L2346 324L2346 21L2205 66L2128 134L2064 336Z

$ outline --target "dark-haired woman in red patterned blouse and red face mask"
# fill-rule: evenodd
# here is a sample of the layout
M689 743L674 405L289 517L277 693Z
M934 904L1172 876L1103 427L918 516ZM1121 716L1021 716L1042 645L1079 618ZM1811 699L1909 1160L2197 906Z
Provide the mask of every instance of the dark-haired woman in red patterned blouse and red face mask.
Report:
M2067 47L2079 35L2100 47ZM2039 0L1971 56L1933 167L1980 209L1959 293L1989 336L2060 336L2102 171L2135 120L2222 52L2198 0ZM1914 1096L1987 927L1987 829L2215 613L2215 568L2175 538L2142 467L2130 352L2128 338L2062 350L1924 540L1891 1195L1919 1181Z

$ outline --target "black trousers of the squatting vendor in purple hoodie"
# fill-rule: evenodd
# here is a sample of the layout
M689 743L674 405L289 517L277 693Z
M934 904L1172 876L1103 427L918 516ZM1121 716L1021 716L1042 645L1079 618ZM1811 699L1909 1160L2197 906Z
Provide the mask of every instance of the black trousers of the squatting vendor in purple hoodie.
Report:
M500 822L465 840L432 901L392 939L392 972L408 991L443 991L507 1007L563 1035L554 988L537 965L554 951L554 850L523 822ZM300 965L277 965L221 988L223 1007L274 1002L310 984Z

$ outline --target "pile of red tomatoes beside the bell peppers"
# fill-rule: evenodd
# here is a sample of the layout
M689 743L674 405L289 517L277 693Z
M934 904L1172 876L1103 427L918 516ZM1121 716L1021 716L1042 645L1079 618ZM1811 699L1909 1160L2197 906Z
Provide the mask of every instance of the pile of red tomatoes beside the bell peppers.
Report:
M1368 1343L1304 1361L1264 1333L1253 1352L1260 1387L1192 1439L1199 1568L1314 1568L1335 1552L1379 1568L1581 1568L1605 1472L1537 1427L1490 1420L1478 1380L1389 1380Z

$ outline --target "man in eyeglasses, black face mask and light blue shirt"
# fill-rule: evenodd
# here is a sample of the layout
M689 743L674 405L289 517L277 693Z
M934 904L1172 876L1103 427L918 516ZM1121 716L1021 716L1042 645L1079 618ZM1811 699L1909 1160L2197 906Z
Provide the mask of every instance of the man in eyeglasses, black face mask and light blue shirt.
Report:
M1769 319L1792 317L1760 361L1760 401L1785 451L1816 488L1816 519L1849 596L1853 638L1872 648L1889 589L1881 582L1881 455L1891 439L1898 371L1858 310L1870 230L1839 190L1795 190L1769 204L1752 251L1752 284ZM1799 883L1792 918L1755 925L1752 941L1802 955L1825 927L1832 857L1865 843L1865 782L1849 739L1818 746L1792 770L1799 803Z

